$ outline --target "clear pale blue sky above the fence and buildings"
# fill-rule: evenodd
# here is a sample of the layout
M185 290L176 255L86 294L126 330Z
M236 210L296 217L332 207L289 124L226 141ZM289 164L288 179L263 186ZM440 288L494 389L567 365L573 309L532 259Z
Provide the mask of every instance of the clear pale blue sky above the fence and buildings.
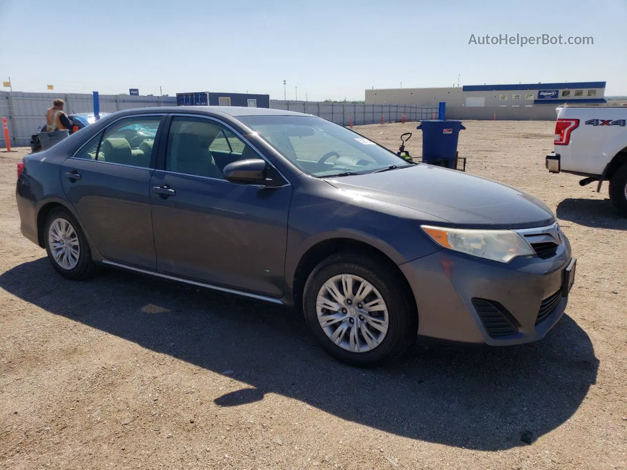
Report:
M594 45L469 45L471 34ZM0 79L14 91L270 93L607 81L627 95L627 1L0 0ZM6 90L6 88L0 88Z

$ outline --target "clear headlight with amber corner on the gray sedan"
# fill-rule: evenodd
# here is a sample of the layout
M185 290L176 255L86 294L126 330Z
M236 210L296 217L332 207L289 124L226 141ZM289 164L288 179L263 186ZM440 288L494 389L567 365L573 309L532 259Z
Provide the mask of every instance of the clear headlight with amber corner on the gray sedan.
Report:
M428 225L421 228L435 243L444 248L501 263L508 263L516 256L535 253L522 236L511 230L451 229Z

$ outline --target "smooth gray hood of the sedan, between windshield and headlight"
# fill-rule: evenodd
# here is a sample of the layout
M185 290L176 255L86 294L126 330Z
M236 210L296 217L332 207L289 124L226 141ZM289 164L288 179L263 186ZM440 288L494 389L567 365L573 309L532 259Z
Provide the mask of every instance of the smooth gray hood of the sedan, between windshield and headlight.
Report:
M519 229L554 222L551 209L512 186L427 164L326 179L342 191L416 209L458 227Z

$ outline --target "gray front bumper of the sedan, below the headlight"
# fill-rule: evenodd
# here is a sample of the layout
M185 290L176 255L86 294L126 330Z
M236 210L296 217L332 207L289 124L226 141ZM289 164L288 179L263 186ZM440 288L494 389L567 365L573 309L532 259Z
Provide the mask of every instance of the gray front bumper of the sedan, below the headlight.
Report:
M566 309L563 286L571 263L564 237L549 259L524 256L498 263L442 249L399 268L416 299L419 337L497 346L540 340L551 330ZM497 309L490 318L479 307L485 301ZM499 314L513 326L511 333L495 333Z

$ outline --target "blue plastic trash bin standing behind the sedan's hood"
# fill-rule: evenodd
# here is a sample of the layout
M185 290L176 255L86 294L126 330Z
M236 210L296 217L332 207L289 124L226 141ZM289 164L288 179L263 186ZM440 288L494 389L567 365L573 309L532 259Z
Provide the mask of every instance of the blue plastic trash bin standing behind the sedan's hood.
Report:
M461 121L426 119L416 129L423 131L423 162L446 168L455 168L457 140Z

